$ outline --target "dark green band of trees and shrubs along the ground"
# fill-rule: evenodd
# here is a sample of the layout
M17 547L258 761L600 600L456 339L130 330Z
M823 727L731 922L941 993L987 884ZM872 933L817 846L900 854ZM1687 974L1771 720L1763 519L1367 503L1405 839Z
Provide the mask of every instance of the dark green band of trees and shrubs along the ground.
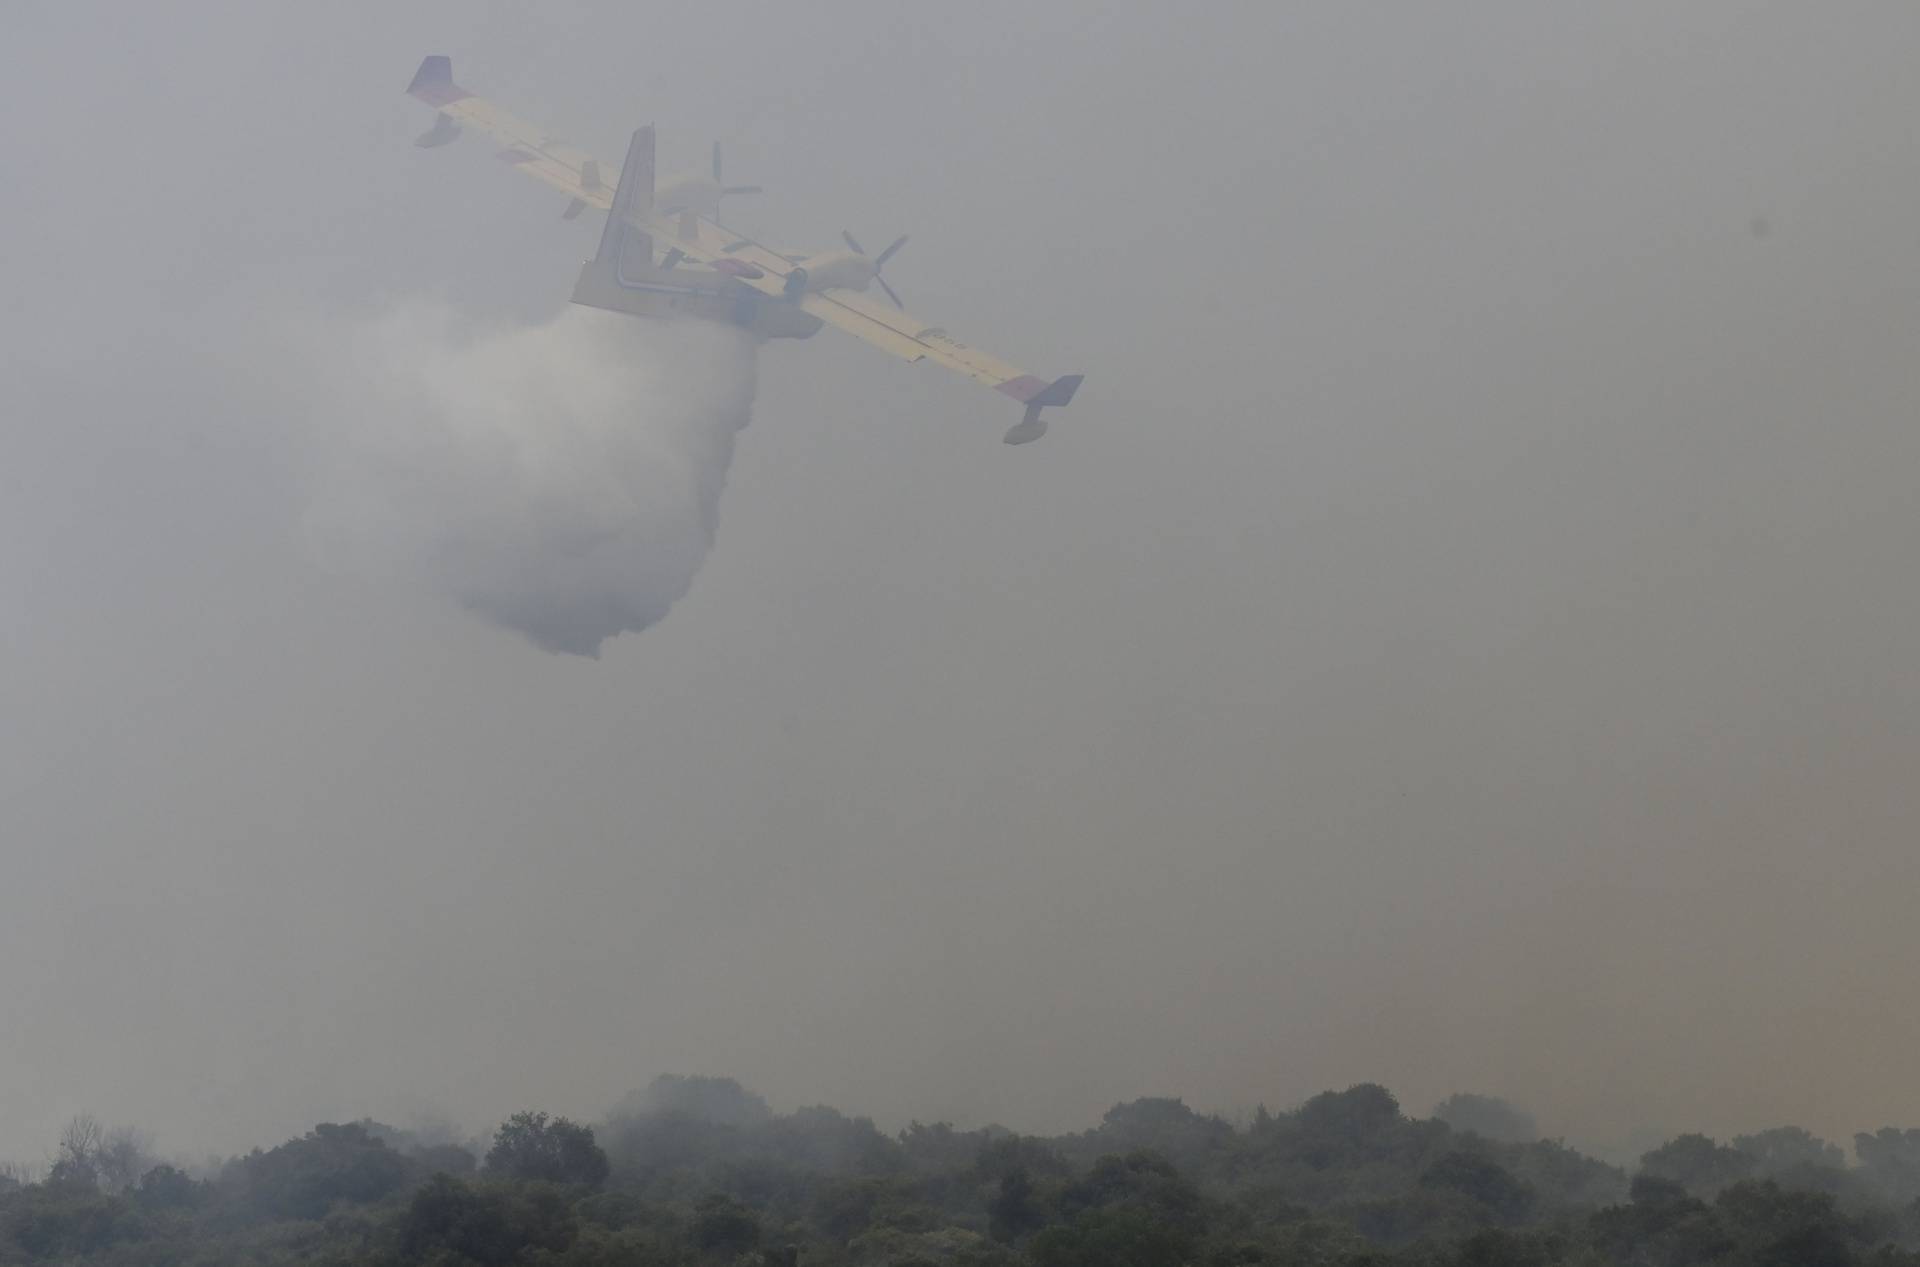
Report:
M1682 1135L1634 1175L1486 1096L1382 1087L1244 1127L1148 1098L1056 1138L668 1077L599 1127L515 1113L484 1148L374 1121L192 1173L75 1119L0 1167L0 1265L115 1267L1920 1267L1920 1131Z

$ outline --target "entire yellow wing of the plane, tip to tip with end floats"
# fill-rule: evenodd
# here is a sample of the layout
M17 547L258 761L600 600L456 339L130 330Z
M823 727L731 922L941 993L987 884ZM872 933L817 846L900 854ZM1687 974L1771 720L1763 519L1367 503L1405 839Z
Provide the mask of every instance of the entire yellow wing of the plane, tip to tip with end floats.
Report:
M422 134L417 144L442 146L459 136L461 129L472 129L497 144L495 155L501 161L566 194L572 200L566 207L568 217L578 215L584 207L603 211L612 207L614 186L607 180L607 169L593 155L455 84L451 58L420 61L407 92L440 111L434 129ZM649 205L651 180L651 173L647 173ZM712 265L733 259L753 265L758 276L751 276L747 271L733 271L732 276L743 286L787 299L785 278L795 265L781 251L695 215L660 217L630 211L628 217L657 244L672 246L697 263ZM1023 403L1027 407L1025 418L1006 434L1008 443L1039 440L1046 432L1041 409L1066 405L1081 384L1079 374L1052 382L1027 374L962 344L939 326L899 307L883 305L858 290L808 290L791 301L826 324L902 361L925 359L945 365Z

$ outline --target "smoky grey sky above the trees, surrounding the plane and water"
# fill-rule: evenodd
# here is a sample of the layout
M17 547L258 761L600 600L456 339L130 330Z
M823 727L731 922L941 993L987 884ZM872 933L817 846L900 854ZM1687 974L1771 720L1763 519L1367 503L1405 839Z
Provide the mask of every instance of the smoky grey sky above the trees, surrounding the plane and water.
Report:
M1920 1123L1920 8L0 13L0 1158L1377 1079L1576 1140ZM315 346L597 217L424 54L737 219L910 232L1087 386L760 353L584 660L303 541ZM303 440L305 438L305 440Z

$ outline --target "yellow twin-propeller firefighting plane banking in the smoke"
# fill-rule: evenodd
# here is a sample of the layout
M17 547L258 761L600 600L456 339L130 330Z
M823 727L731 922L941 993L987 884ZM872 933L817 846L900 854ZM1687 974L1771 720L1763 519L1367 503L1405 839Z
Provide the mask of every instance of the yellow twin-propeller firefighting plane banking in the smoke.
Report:
M588 207L607 211L599 251L580 271L574 303L637 317L726 321L758 338L810 338L822 324L839 326L902 361L935 361L1025 405L1006 443L1044 436L1041 409L1066 405L1081 384L1081 374L1035 378L910 317L879 275L906 238L868 255L852 234L841 234L851 250L801 255L724 228L720 200L756 194L758 186L720 179L720 146L710 179L695 173L657 186L653 129L643 127L609 188L591 155L455 84L449 58L424 60L407 92L440 111L417 146L444 146L470 127L499 144L501 159L566 194L566 219ZM659 259L655 242L666 248ZM893 303L870 298L870 284Z

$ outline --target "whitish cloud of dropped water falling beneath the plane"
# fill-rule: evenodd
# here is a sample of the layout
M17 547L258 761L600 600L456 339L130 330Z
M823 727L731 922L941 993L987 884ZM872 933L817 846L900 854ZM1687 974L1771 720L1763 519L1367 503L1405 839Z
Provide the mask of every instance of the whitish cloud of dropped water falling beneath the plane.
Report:
M346 342L319 418L346 447L307 516L326 566L586 657L687 593L753 411L745 334L584 307L476 330L417 303Z

